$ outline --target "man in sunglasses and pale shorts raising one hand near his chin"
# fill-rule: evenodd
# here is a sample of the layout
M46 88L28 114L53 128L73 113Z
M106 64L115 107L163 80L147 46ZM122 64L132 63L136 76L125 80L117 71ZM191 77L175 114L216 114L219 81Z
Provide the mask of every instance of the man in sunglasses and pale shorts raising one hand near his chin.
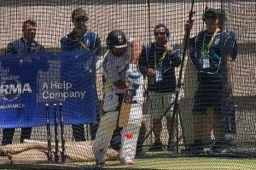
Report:
M148 44L139 59L140 71L148 77L148 111L154 117L154 144L149 150L161 151L160 140L162 124L160 117L172 104L175 97L175 67L181 64L180 50L177 45L168 42L170 32L163 24L154 27L155 42ZM173 150L172 110L166 114L169 133L168 150ZM175 125L177 124L174 122ZM173 129L176 129L174 127Z

